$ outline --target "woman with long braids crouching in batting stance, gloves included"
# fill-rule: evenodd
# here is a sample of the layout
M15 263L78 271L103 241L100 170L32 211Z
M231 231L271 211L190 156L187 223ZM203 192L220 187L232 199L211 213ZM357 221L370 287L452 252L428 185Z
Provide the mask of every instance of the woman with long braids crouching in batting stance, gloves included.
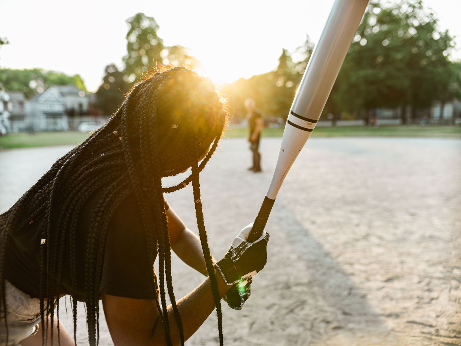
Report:
M199 173L226 119L211 81L184 68L157 72L0 215L0 346L77 345L77 301L86 303L89 345L97 345L99 300L116 346L183 345L215 307L223 344L220 299L248 297L236 283L264 267L269 239L248 243L249 225L222 260L211 255ZM162 186L189 167L183 182ZM189 183L200 237L163 197ZM171 249L207 276L178 300ZM63 295L72 300L73 338L59 324Z

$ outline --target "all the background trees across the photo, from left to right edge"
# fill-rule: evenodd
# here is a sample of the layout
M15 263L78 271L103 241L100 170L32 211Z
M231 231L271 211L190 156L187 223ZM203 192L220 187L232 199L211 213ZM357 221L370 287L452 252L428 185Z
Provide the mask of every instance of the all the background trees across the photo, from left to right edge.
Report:
M153 17L136 13L126 20L127 54L124 68L106 66L103 82L96 92L96 106L105 115L115 112L130 85L159 66L187 66L199 62L181 45L165 46L157 34ZM8 43L6 39L0 44ZM423 7L421 0L399 3L372 0L364 14L343 66L325 105L327 113L365 113L378 107L401 107L416 112L443 105L461 97L461 62L449 60L453 37L442 31L436 16ZM314 44L306 41L295 51L282 49L274 70L226 84L231 113L241 118L243 102L253 97L266 116L286 119L296 89L301 82ZM74 84L86 90L79 75L42 69L0 70L0 83L7 90L24 92L30 97L53 84ZM323 116L324 116L323 115ZM402 118L405 120L404 118Z

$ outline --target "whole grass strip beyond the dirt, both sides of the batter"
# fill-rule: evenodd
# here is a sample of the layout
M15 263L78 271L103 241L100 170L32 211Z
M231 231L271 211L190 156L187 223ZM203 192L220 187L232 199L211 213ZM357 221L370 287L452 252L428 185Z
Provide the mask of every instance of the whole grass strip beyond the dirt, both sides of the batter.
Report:
M263 137L282 137L284 129L263 129ZM248 129L229 128L226 137L247 137ZM379 126L317 126L312 132L313 137L436 137L461 138L461 126L445 125L394 125ZM11 133L0 137L0 149L43 147L49 145L77 145L88 138L87 132L36 132Z

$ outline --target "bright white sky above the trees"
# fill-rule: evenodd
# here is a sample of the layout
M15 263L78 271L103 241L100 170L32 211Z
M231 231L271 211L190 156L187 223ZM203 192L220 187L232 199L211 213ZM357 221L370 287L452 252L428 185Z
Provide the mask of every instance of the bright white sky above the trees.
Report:
M457 36L452 60L461 60L460 0L423 0L441 30ZM283 6L281 6L283 4ZM0 0L0 67L79 74L89 91L106 65L123 68L125 20L154 17L165 46L182 45L218 84L273 70L282 48L294 51L306 35L317 42L333 0Z

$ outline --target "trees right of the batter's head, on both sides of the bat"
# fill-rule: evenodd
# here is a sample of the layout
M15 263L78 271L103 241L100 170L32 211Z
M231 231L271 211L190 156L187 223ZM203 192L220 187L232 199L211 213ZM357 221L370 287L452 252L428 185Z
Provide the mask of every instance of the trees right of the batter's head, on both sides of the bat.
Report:
M324 115L411 106L414 119L418 109L430 107L435 100L460 97L461 64L449 60L453 46L453 37L438 29L437 18L421 0L372 1ZM243 106L237 102L250 96L266 115L286 118L312 51L307 37L295 52L282 51L274 71L224 86L235 113L243 116ZM300 53L301 59L295 59Z

